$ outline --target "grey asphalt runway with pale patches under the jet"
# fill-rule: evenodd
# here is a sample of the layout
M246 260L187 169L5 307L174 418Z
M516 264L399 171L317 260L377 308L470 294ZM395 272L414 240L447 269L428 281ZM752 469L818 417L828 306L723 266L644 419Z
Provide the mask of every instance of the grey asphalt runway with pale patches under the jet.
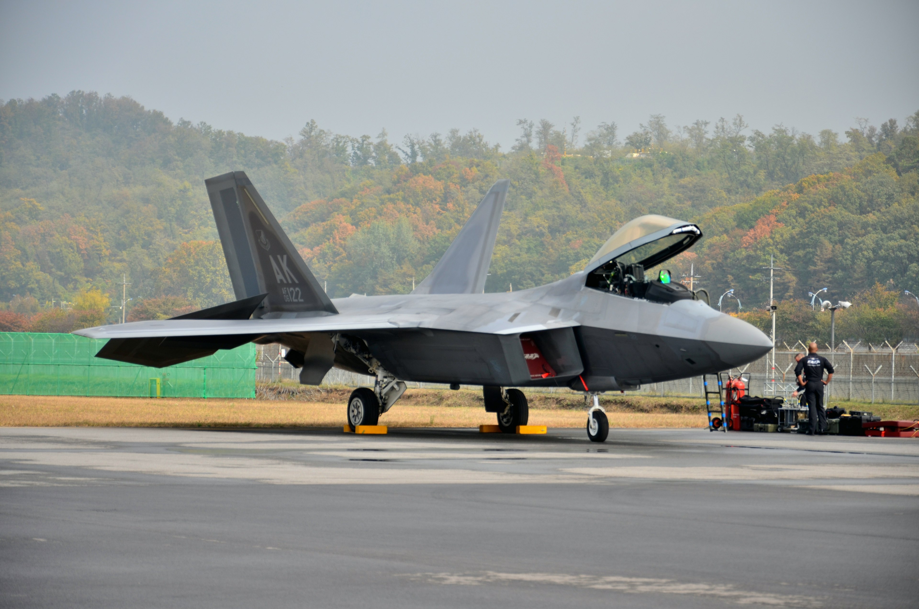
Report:
M919 440L0 429L4 607L915 607Z

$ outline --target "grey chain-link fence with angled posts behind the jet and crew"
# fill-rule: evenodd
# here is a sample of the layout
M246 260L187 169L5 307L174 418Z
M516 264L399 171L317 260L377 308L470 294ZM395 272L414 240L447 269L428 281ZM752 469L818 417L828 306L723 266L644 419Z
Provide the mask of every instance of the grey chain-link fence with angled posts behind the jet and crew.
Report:
M775 352L775 368L772 353L756 362L751 362L730 371L736 375L750 376L749 391L753 395L789 396L795 390L795 360L797 353L806 351L803 343L780 345ZM796 350L797 348L797 350ZM883 402L891 404L919 403L919 348L915 343L890 345L868 344L857 341L837 345L834 352L827 346L821 351L833 362L833 382L827 388L827 399L853 400L858 402ZM281 355L278 345L259 347L259 382L281 380L297 381L300 371L291 366ZM372 386L373 377L348 373L333 368L323 379L323 385ZM446 389L448 385L437 383L409 383L410 388ZM530 387L528 391L548 393L569 392L565 387ZM702 397L702 377L694 376L679 381L642 385L636 393L643 396Z

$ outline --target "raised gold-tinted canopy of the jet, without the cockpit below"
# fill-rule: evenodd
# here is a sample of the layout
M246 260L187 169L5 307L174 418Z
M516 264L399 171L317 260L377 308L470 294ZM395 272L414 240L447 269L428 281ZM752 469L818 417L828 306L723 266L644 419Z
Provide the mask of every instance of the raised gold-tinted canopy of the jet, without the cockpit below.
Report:
M650 269L692 247L701 237L696 224L654 213L642 215L613 233L584 270L589 272L613 259Z

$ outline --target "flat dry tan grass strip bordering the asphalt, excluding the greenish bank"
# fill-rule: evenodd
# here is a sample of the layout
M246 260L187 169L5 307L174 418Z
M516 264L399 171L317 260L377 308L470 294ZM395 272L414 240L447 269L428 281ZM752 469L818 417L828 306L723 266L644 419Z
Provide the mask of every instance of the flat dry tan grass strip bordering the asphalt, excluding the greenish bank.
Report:
M438 392L446 393L446 392ZM457 394L460 392L450 392ZM469 392L471 393L471 392ZM340 427L344 396L335 402L293 399L197 399L81 396L0 396L3 427ZM391 427L466 427L494 424L482 406L396 404L380 418ZM535 406L535 405L534 405ZM581 400L583 407L583 399ZM704 427L706 416L674 412L614 412L619 428ZM584 427L584 408L530 408L529 422L549 427Z

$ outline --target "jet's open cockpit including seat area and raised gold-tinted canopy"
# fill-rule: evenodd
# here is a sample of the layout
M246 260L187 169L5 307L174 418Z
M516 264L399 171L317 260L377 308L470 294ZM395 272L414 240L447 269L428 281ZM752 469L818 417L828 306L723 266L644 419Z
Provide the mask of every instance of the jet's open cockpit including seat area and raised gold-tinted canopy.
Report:
M701 297L708 301L704 290L691 292L682 283L674 282L670 270L648 270L692 247L702 237L696 224L689 224L663 215L642 215L624 224L603 247L584 272L586 286L620 296L644 298L659 303Z

